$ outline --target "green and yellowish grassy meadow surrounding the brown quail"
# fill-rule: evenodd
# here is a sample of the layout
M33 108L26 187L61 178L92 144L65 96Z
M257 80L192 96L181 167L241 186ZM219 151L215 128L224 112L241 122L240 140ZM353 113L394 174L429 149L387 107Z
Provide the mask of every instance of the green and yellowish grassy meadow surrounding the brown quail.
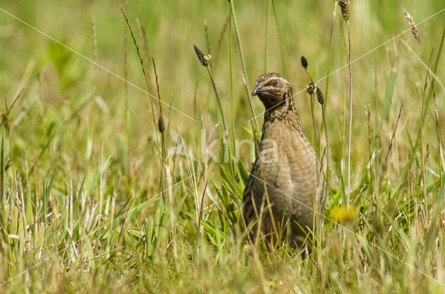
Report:
M444 291L445 12L418 26L421 44L407 31L352 64L350 170L348 69L317 83L326 134L321 106L314 135L309 96L294 97L319 157L329 139L326 218L302 261L248 241L240 207L254 159L240 143L259 136L262 116L250 119L263 107L248 89L264 68L285 68L297 93L309 84L301 55L314 80L348 64L337 3L0 8L152 95L0 11L0 293ZM353 1L351 59L407 30L403 8L419 23L444 7ZM215 89L193 44L212 54ZM153 97L172 107L161 114Z

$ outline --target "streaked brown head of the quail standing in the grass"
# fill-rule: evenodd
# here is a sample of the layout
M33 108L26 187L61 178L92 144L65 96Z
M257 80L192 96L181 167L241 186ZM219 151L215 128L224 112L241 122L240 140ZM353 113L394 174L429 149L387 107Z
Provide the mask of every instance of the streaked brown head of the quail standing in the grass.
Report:
M280 104L285 105L284 101L292 96L292 86L280 74L262 74L257 78L252 96L258 96L267 110Z

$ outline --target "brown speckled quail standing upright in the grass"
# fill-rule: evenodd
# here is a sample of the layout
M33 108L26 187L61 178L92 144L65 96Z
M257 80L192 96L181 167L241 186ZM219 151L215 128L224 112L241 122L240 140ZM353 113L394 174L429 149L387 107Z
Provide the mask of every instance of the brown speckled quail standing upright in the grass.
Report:
M259 155L243 192L243 218L252 238L261 232L270 241L287 239L301 246L313 230L314 211L323 213L318 159L302 131L286 79L263 74L252 96L259 97L266 112Z

